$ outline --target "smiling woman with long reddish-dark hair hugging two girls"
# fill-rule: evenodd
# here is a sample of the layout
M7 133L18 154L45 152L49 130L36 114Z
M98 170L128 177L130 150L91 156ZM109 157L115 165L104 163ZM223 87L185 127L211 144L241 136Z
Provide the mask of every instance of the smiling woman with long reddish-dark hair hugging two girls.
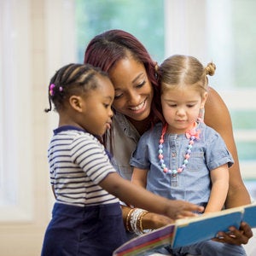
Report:
M115 89L113 125L105 143L113 154L113 165L119 174L131 179L130 158L139 137L150 125L160 120L159 90L153 61L137 38L121 30L110 30L90 41L84 54L84 63L101 67L108 72ZM219 115L221 113L221 116ZM236 144L233 137L230 113L217 91L209 89L205 105L204 121L218 131L232 154L235 164L230 168L230 188L225 207L249 204L250 196L242 182ZM123 208L126 229L131 208ZM127 216L128 215L128 216ZM148 212L143 215L143 228L155 229L172 220ZM127 227L128 225L128 227ZM142 231L142 230L138 230ZM253 236L250 227L242 223L240 230L231 228L234 236L221 235L233 244L246 244Z

